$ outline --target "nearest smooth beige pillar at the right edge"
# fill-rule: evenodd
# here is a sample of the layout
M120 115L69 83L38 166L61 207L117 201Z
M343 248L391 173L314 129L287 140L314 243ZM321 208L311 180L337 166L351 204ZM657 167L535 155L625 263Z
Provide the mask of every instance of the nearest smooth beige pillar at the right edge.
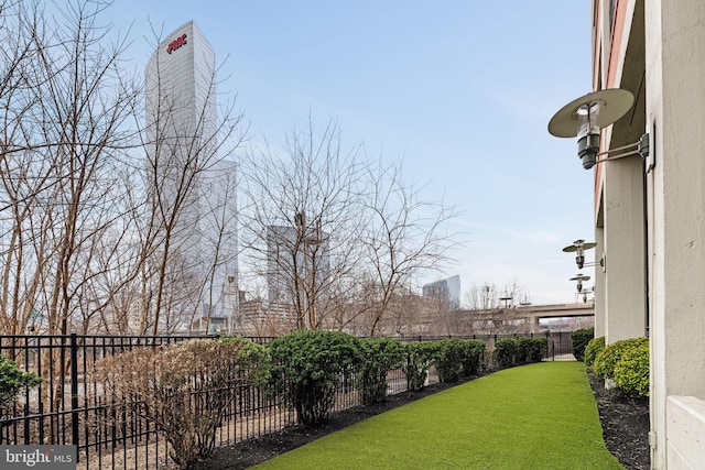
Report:
M705 2L647 2L652 429L666 466L669 395L705 398ZM704 451L705 453L705 451Z

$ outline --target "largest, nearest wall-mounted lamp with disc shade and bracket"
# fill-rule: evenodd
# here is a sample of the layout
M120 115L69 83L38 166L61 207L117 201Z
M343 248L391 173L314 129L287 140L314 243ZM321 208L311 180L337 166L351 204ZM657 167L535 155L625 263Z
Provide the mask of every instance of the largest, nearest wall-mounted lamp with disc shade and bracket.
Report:
M649 155L649 134L638 142L599 151L600 130L614 124L632 107L634 96L620 88L594 91L565 105L549 122L549 132L556 138L577 136L577 154L583 167L589 170L598 163L630 155ZM610 153L619 152L609 156ZM606 155L604 159L598 156Z

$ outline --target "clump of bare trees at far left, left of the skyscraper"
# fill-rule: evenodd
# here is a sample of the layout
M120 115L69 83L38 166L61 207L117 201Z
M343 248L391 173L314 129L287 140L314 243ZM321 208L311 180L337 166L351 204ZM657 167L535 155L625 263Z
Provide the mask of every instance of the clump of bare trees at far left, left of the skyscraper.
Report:
M45 17L41 3L3 7L1 34L15 51L2 57L10 74L0 90L10 124L1 160L3 212L11 214L6 330L41 316L47 332L65 335L69 321L95 313L86 293L97 266L88 261L120 217L112 178L133 135L127 118L139 89L120 69L124 41L105 45L110 29L97 21L107 3L69 3L62 18Z

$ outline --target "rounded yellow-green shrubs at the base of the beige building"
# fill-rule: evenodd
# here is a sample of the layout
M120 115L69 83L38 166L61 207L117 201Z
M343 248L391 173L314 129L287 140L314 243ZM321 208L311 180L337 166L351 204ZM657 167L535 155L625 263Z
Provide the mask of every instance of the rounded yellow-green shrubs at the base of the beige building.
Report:
M605 346L605 337L593 339L585 350L585 364L603 379L611 379L626 392L649 395L649 339L631 338Z

